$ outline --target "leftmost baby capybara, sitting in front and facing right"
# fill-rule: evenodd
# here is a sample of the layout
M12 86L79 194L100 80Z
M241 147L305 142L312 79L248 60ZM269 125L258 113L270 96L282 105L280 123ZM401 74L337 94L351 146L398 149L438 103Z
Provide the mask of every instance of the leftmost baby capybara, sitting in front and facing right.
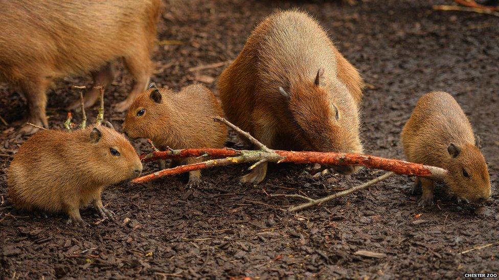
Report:
M73 132L40 131L19 148L8 170L9 198L25 210L65 212L68 223L87 225L79 209L92 202L110 217L104 187L137 177L142 163L109 122Z

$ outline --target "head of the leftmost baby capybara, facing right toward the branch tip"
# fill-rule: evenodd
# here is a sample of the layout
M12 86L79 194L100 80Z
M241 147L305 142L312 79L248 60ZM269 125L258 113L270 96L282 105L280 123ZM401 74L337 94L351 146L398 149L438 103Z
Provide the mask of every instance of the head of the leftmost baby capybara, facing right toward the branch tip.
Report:
M93 169L89 171L92 171L93 180L116 184L141 174L142 163L137 152L110 122L94 125L87 137L88 159Z

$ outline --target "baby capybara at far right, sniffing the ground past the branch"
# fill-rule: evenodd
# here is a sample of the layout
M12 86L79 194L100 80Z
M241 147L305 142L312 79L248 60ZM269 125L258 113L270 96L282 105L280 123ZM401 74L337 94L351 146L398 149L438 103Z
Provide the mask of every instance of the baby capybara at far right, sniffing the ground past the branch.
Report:
M456 100L446 92L423 95L402 130L407 160L448 170L445 183L460 199L483 203L491 195L489 172L471 124ZM420 206L433 205L435 185L417 177Z

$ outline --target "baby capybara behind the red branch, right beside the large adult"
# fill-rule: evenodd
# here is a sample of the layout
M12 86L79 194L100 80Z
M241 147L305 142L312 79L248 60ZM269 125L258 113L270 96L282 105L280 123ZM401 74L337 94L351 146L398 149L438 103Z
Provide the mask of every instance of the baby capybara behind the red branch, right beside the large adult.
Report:
M227 129L213 121L222 114L215 95L205 86L195 84L173 92L151 83L128 109L123 131L130 138L151 139L160 150L222 148ZM186 162L201 161L188 158ZM199 184L200 176L200 170L190 171L188 185Z

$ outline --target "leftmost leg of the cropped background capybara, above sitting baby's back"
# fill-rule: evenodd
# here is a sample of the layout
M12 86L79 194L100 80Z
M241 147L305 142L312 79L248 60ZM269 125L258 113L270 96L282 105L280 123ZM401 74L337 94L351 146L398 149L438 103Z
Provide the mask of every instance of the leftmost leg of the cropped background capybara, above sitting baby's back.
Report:
M47 86L49 81L47 79L38 79L32 81L23 81L20 83L20 89L26 95L28 100L28 122L48 128L49 122L45 113L47 106ZM20 133L24 135L31 135L39 129L32 125L26 124L20 129Z

